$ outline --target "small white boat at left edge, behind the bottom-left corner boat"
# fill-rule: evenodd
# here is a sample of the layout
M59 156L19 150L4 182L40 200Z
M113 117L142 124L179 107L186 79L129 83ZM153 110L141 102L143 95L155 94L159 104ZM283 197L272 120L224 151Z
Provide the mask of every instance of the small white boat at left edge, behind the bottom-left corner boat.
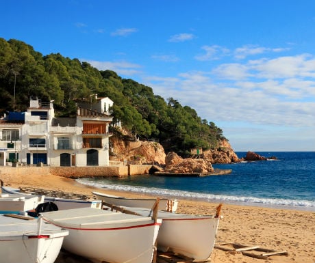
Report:
M17 213L21 211L34 210L38 204L42 204L44 196L31 196L21 194L1 193L0 214Z

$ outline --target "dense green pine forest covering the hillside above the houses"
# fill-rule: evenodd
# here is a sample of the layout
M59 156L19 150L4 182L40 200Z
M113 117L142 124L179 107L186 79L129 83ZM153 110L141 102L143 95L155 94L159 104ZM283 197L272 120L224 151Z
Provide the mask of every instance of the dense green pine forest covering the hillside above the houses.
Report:
M54 100L56 115L75 115L76 98L109 97L112 115L140 139L159 139L166 152L188 156L190 149L217 148L223 130L214 122L201 120L197 112L175 98L166 100L153 89L112 70L97 70L79 59L60 53L42 55L19 40L0 38L0 115L25 111L29 98ZM115 130L113 130L115 132ZM116 131L117 132L117 131Z

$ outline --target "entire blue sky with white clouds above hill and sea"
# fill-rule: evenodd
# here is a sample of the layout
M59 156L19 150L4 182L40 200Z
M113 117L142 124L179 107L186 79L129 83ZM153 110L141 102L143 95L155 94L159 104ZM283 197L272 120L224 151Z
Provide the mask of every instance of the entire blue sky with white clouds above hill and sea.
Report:
M236 151L315 150L315 1L1 3L0 37L175 98Z

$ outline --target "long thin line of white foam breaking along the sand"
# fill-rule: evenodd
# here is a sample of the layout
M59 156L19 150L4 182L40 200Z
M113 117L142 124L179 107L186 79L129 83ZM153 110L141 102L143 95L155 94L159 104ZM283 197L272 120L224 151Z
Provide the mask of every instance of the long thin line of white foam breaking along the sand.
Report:
M182 199L198 199L203 201L216 201L216 202L227 202L232 204L262 204L265 206L290 206L297 208L315 208L315 202L310 200L298 200L298 199L273 199L273 198L260 198L260 197L244 197L244 196L233 196L233 195L213 195L205 193L194 193L188 191L170 190L170 189L158 189L158 188L147 188L142 186L129 186L122 184L103 184L92 182L89 180L77 179L80 184L86 184L94 186L100 189L109 189L114 191L126 191L134 193L143 193L149 195L162 195L174 198Z

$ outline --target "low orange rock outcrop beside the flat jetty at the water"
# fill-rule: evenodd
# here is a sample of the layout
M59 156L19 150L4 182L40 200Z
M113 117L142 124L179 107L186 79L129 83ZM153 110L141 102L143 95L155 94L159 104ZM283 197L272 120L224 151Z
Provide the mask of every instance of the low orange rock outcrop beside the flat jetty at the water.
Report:
M165 172L168 173L213 173L214 168L211 163L203 158L181 158L175 152L169 152L166 156Z

